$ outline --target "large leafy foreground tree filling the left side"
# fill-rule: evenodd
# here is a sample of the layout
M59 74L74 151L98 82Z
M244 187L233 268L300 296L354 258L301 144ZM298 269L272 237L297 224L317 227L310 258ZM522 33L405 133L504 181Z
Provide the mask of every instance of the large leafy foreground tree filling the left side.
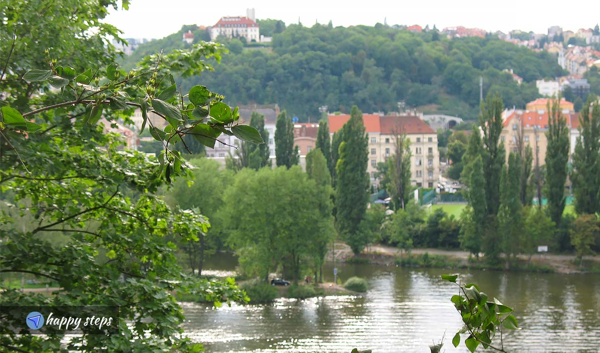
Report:
M128 1L121 4L126 8ZM171 210L156 193L165 180L190 170L179 151L185 149L181 136L200 130L194 137L209 145L236 126L236 111L224 108L221 95L205 89L205 100L181 109L181 94L173 89L172 74L206 70L203 60L217 59L219 46L156 55L127 73L113 62L112 46L104 46L107 37L118 39L102 21L116 1L6 5L0 10L0 50L7 53L0 74L0 190L2 198L10 190L11 206L0 222L0 271L50 279L61 291L47 296L1 288L0 304L118 306L121 335L9 335L0 344L36 352L199 351L182 335L184 316L172 293L215 306L246 298L233 280L184 273L176 244L199 241L209 223L197 211ZM130 122L132 107L169 122L160 130L145 118L151 136L164 143L158 158L122 150L121 136L104 132L118 118ZM22 223L29 216L34 222ZM1 325L7 331L19 324Z

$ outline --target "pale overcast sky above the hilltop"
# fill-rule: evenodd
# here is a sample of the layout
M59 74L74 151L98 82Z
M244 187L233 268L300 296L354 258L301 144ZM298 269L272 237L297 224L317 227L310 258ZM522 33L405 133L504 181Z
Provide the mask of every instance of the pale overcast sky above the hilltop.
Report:
M374 0L350 1L200 1L132 0L128 11L111 11L105 22L124 32L124 38L162 38L181 25L211 26L221 16L245 16L246 8L256 10L257 19L280 19L286 24L305 26L333 22L334 26L429 25L478 27L487 31L512 29L546 33L549 26L564 30L593 28L600 22L600 1L581 0L569 6L564 1L503 0ZM572 10L571 10L572 9Z

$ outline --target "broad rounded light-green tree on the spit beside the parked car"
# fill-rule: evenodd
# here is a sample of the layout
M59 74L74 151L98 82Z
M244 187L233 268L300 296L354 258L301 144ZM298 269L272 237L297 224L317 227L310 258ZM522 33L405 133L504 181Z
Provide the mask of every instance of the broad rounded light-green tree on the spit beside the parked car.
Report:
M303 173L290 169L242 169L224 193L220 216L227 219L227 243L239 254L242 273L268 280L285 262L295 282L313 254L328 243L332 219L326 193ZM322 209L323 213L315 212ZM236 215L231 217L231 215Z

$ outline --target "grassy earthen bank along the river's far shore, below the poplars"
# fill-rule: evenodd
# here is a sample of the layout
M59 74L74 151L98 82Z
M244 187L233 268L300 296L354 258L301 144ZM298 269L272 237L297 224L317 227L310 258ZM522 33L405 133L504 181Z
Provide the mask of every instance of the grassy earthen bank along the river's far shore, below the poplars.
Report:
M397 265L403 267L439 267L469 268L481 270L530 271L545 273L600 273L600 256L586 256L584 268L573 255L545 254L533 255L528 262L528 255L518 256L518 263L511 268L504 265L491 266L483 258L475 259L469 252L442 249L413 249L410 254L401 253L397 247L374 245L355 256L350 247L344 243L336 243L334 251L329 250L328 261L349 262L354 264Z

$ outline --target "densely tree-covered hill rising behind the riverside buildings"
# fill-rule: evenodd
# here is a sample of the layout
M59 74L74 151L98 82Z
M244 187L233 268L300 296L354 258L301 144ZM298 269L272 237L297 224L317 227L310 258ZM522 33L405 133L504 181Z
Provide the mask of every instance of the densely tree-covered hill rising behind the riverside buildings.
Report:
M148 49L174 49L172 36L178 38L176 47L184 45L181 34L140 46L126 65ZM184 91L201 83L225 94L230 104L278 103L301 121L318 118L323 105L329 111L349 112L356 104L364 112L389 112L399 101L468 119L479 110L480 76L484 95L497 91L506 106L524 108L538 97L536 79L565 74L550 53L495 37L449 40L437 31L413 33L379 24L290 25L273 35L267 48L226 41L230 52L215 71L183 80ZM523 77L523 84L504 69Z

